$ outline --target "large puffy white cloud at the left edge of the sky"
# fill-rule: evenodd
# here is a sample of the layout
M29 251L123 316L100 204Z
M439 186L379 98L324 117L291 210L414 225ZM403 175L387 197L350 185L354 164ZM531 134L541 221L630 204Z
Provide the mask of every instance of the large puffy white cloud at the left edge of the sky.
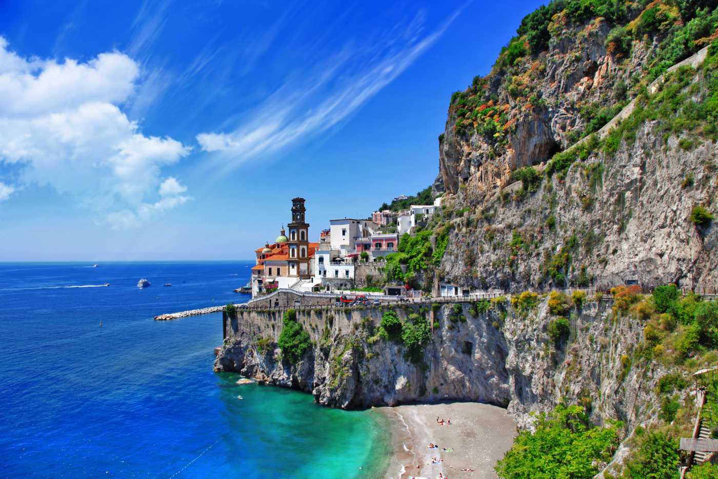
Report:
M120 109L138 87L134 60L115 52L58 63L20 58L7 46L0 37L0 162L19 165L20 183L50 185L126 226L149 217L141 211L186 201L175 178L162 183L162 168L190 147L145 136Z

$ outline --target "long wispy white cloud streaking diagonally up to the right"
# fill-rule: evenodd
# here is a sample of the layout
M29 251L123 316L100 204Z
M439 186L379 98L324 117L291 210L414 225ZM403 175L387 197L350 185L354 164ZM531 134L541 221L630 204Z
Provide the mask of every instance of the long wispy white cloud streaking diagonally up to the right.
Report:
M228 132L197 134L202 150L218 152L225 170L276 152L347 119L393 81L436 42L460 14L457 9L432 32L422 12L398 22L388 32L353 39L296 70L284 83L238 120Z

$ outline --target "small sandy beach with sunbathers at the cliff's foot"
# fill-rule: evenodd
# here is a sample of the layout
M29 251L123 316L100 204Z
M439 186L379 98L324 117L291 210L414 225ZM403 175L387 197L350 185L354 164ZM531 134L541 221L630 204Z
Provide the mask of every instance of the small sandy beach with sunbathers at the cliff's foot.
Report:
M378 409L391 424L393 458L388 478L434 479L439 474L449 479L498 478L493 467L516 436L513 417L505 409L489 404L439 403ZM437 416L444 419L444 424L437 423ZM451 424L447 424L448 419ZM429 443L438 447L429 449Z

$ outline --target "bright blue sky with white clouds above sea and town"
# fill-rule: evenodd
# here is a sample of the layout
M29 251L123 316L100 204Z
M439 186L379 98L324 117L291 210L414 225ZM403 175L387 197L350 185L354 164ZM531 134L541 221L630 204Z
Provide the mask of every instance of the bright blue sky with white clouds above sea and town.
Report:
M248 259L438 173L539 1L0 1L0 261Z

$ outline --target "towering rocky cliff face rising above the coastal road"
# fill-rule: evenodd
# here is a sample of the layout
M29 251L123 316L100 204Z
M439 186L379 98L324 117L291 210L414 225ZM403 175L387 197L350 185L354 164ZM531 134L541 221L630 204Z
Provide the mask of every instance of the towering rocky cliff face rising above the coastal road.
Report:
M640 10L627 15L628 27L641 20ZM671 118L682 107L641 113L630 136L609 146L615 138L607 132L587 138L574 147L582 151L570 166L556 160L630 99L646 108L660 94L660 86L646 90L647 72L666 33L646 33L627 50L611 40L616 27L556 15L547 51L505 52L490 75L454 93L439 137L444 227L451 231L442 278L507 291L627 279L716 283L717 229L696 226L690 216L696 205L717 206L717 145L700 124L686 128ZM711 94L714 73L686 75L691 81L676 95L692 108ZM530 165L535 177L521 178Z

